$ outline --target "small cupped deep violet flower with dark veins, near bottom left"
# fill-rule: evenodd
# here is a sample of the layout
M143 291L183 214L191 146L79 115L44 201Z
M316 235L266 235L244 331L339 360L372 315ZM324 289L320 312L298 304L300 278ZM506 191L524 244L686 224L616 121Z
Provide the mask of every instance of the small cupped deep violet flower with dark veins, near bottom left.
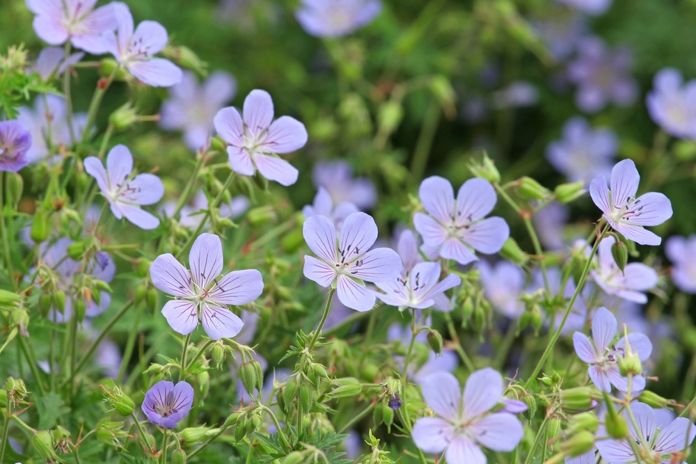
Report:
M181 419L189 415L193 406L193 387L181 381L159 381L145 393L141 406L152 424L165 429L175 429Z

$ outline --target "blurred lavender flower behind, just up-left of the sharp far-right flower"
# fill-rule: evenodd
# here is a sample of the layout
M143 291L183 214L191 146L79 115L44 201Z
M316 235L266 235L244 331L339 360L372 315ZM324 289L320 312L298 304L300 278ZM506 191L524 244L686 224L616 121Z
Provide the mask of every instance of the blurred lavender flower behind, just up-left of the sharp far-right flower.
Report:
M592 129L585 118L571 118L563 126L563 138L546 148L546 159L570 182L590 182L609 175L619 150L619 138L605 128Z

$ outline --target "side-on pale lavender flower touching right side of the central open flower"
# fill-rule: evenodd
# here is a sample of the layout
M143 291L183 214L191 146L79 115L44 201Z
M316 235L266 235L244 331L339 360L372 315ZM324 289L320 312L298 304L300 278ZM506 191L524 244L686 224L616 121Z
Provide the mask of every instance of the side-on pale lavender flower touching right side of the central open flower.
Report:
M434 296L461 284L461 278L455 274L449 274L438 282L440 273L439 263L422 262L413 266L405 277L399 275L388 282L376 282L377 288L384 293L373 293L381 301L398 307L400 311L408 307L425 310L435 304Z

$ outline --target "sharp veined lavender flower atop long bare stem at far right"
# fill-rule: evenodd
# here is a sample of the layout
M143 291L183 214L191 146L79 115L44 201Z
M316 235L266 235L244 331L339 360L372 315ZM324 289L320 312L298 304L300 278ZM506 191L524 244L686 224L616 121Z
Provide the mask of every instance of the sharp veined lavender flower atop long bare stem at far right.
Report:
M672 217L672 203L663 193L649 192L635 198L640 175L635 163L624 159L611 170L610 189L606 177L592 179L590 195L592 201L604 213L612 229L626 239L641 245L659 245L662 239L645 230L645 225L660 225Z

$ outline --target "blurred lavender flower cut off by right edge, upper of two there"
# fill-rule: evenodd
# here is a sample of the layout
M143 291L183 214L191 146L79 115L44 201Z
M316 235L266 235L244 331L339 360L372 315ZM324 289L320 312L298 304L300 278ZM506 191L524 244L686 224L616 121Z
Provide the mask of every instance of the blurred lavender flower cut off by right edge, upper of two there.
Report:
M681 72L667 67L655 75L646 97L650 117L668 134L696 138L696 79L683 83Z

